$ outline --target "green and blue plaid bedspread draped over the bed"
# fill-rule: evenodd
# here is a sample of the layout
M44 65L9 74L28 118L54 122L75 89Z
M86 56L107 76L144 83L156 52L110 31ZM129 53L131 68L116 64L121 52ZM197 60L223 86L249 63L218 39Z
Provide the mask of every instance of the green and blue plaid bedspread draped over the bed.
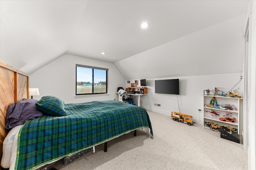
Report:
M24 124L15 169L34 169L138 127L149 127L153 136L142 107L113 100L66 104L65 109L67 116L43 115Z

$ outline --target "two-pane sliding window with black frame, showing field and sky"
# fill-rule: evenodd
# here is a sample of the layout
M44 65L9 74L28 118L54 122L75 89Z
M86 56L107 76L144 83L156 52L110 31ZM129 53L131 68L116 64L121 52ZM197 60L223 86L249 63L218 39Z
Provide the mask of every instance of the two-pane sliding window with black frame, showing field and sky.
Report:
M108 68L76 64L76 95L108 92Z

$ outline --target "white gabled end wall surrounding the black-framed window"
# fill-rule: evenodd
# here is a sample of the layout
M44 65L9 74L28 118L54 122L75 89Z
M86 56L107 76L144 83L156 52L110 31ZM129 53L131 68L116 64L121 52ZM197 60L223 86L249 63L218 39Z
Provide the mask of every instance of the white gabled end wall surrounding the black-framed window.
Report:
M108 68L108 94L75 97L76 64ZM66 54L31 74L29 86L39 88L40 96L33 96L33 99L40 100L43 96L51 95L59 97L66 104L83 103L94 100L117 100L117 87L125 87L126 79L114 63Z

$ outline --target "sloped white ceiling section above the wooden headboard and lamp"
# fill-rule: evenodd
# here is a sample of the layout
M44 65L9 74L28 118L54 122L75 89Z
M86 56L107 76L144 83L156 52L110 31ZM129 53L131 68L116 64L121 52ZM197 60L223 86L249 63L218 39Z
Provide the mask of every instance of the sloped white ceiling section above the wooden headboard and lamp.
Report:
M66 53L86 1L1 0L1 60L28 74Z

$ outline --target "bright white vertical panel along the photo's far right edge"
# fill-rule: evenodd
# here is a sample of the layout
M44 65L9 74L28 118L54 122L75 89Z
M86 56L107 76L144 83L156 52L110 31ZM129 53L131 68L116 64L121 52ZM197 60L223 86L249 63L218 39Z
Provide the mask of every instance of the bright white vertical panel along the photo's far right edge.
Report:
M251 0L248 8L248 169L256 169L256 1ZM247 70L246 70L247 71Z

